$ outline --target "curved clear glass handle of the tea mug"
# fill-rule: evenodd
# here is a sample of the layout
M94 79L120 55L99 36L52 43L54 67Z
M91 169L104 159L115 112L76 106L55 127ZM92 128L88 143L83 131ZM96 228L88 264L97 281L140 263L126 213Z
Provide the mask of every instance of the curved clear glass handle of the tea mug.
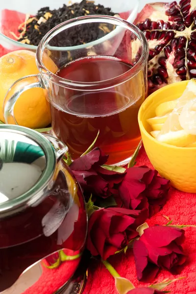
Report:
M14 105L20 95L31 88L45 89L40 74L26 75L25 77L22 77L14 82L9 88L3 101L3 117L5 119L5 123L18 124L14 117ZM14 94L10 97L11 91Z

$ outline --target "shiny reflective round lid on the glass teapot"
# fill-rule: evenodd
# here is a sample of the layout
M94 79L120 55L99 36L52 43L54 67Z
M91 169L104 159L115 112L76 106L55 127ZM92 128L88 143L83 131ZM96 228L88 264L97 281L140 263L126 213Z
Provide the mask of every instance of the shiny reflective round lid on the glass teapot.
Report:
M55 171L56 156L40 133L19 125L0 125L0 217L32 206Z

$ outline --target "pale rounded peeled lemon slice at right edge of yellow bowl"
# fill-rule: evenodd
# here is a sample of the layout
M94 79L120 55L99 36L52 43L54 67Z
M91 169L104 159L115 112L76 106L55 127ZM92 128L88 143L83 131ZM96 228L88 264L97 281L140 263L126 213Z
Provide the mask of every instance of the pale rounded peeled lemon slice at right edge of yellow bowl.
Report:
M187 102L179 116L181 127L191 135L196 135L196 99Z

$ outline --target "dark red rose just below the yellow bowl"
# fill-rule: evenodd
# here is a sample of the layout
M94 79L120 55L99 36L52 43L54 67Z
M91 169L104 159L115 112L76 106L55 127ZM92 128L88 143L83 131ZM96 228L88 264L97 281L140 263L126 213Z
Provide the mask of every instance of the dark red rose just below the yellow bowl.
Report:
M127 169L119 186L123 207L148 208L149 216L158 212L167 201L170 181L157 174L157 171L146 166Z

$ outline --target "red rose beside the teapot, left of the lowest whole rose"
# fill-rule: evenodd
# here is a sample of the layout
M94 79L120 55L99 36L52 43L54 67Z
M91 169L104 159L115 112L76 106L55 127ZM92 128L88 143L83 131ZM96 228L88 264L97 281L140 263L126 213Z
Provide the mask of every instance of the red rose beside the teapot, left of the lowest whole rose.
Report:
M141 211L115 207L96 210L89 219L87 248L92 255L100 255L106 260L138 236L136 228L146 219L146 209Z

